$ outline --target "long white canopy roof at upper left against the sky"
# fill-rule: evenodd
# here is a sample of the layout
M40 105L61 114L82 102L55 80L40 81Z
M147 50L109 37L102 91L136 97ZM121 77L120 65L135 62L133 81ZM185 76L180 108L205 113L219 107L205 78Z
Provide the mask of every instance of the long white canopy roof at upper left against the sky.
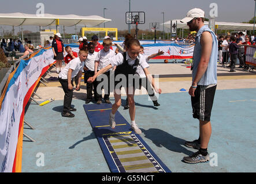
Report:
M51 26L55 25L55 20L59 20L60 25L75 26L83 25L87 27L97 26L104 22L111 21L100 16L77 16L55 15L55 14L25 14L25 13L0 13L0 25L22 26L37 25Z

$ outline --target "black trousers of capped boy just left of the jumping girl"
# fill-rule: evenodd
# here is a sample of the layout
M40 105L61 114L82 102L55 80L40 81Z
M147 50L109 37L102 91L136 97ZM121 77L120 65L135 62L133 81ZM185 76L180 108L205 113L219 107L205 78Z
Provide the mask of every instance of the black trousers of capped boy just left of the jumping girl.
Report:
M105 72L104 75L107 77L107 81L105 81L105 80L103 81L104 78L102 78L100 81L98 81L96 79L96 82L97 82L97 88L98 88L98 86L102 86L102 84L103 84L103 89L105 91L104 99L107 100L107 99L109 99L109 94L110 94L110 71ZM97 88L96 88L96 90L97 90ZM99 92L99 93L97 93L98 94L98 100L102 100L102 91L101 91L101 89L98 89L98 92Z

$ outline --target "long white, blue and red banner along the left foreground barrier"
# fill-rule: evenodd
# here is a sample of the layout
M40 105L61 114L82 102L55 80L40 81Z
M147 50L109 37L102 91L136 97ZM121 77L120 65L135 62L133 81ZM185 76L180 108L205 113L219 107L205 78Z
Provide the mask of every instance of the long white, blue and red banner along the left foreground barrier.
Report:
M23 125L27 104L24 98L28 93L31 95L31 89L42 71L53 62L51 47L43 48L32 53L28 59L21 60L9 75L0 99L0 172L13 171L20 125Z

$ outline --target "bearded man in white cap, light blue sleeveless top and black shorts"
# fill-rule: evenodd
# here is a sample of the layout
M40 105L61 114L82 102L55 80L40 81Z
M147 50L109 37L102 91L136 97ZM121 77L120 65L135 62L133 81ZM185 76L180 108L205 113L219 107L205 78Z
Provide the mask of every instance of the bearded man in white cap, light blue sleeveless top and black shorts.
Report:
M187 23L190 31L196 31L194 56L192 62L192 85L189 90L193 117L199 120L198 140L186 141L185 146L199 150L183 158L185 163L209 161L208 143L212 134L210 116L217 87L217 37L204 25L205 12L195 8L188 11L181 22Z

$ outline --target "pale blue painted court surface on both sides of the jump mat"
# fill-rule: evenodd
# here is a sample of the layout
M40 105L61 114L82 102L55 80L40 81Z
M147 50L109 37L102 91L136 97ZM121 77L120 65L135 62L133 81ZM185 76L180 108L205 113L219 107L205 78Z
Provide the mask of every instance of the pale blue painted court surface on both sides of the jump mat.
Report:
M256 89L216 91L209 163L181 161L196 151L185 147L184 142L199 136L199 122L192 118L187 91L161 94L161 106L157 108L148 95L135 96L135 120L142 129L141 139L172 172L255 172L255 94ZM110 101L113 103L114 99ZM22 172L109 173L110 167L83 108L84 101L73 99L72 105L77 109L74 118L61 117L62 105L63 101L53 101L44 106L31 102L28 106L25 120L36 129L24 125L24 133L36 142L24 137ZM130 121L123 106L118 112ZM43 162L39 163L42 155Z

